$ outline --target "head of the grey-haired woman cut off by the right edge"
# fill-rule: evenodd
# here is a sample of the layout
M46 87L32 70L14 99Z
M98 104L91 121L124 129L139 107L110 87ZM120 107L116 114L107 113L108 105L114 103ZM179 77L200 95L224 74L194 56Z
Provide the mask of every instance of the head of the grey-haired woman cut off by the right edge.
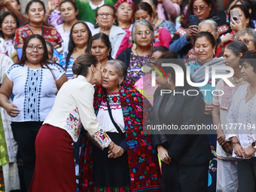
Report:
M242 41L247 47L248 50L256 49L256 32L254 29L242 29L236 34L236 41Z

